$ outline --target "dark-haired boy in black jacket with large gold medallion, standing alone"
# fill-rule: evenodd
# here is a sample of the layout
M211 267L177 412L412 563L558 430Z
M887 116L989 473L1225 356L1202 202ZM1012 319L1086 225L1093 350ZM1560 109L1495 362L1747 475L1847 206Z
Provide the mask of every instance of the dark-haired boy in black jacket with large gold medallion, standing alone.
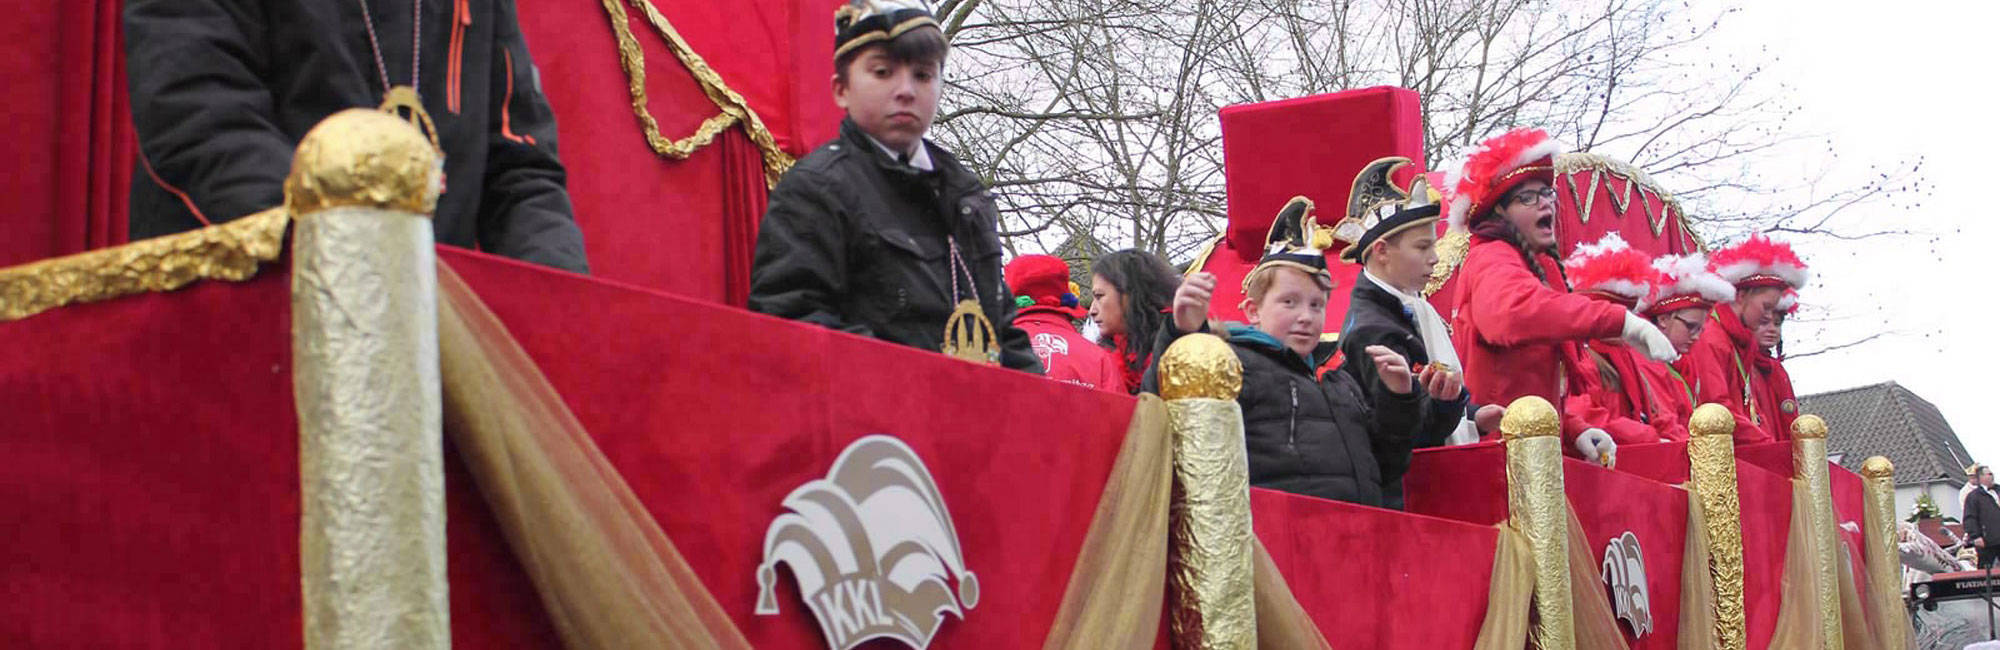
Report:
M834 12L840 138L770 192L750 308L1040 374L1000 276L1000 212L984 182L924 132L938 114L946 42L920 0ZM994 336L946 340L978 314Z

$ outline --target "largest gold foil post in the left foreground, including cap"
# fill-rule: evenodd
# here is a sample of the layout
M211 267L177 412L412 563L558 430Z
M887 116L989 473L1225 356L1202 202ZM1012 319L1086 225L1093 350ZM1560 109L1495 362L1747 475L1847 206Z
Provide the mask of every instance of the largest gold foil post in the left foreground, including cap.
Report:
M308 650L452 644L438 174L414 126L346 110L300 140L284 182Z

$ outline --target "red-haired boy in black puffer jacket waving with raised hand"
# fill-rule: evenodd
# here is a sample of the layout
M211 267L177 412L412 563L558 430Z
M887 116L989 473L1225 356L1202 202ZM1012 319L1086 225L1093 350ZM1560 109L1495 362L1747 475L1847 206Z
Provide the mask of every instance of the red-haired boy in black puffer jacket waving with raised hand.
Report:
M1334 344L1322 342L1332 278L1326 256L1308 242L1312 202L1294 198L1272 224L1272 252L1244 276L1244 316L1226 324L1224 338L1244 366L1236 402L1244 410L1250 484L1364 506L1382 506L1382 484L1400 482L1400 468L1380 458L1408 458L1422 420L1420 382L1396 352L1372 346L1370 364L1388 390L1368 398L1338 366ZM1174 324L1160 334L1154 356L1186 332L1206 330L1212 274L1192 274L1174 294ZM1154 384L1154 382L1148 382Z

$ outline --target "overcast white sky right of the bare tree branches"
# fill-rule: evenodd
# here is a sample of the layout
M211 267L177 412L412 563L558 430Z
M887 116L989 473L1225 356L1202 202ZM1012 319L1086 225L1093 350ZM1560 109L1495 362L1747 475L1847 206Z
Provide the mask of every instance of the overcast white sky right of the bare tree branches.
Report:
M1924 158L1932 190L1914 210L1876 206L1856 220L1942 234L1848 244L1800 238L1812 286L1802 314L1820 318L1786 332L1792 350L1812 340L1854 340L1890 328L1904 334L1786 364L1800 394L1896 380L1944 410L1958 438L1980 462L2000 462L1992 418L1992 346L2000 270L2000 226L1990 212L2000 178L1994 120L1996 82L1992 2L1728 2L1732 14L1718 46L1746 60L1764 58L1796 90L1802 126L1840 148L1838 174L1862 174L1868 162ZM1696 2L1696 8L1720 2ZM1802 170L1816 156L1786 160ZM1660 178L1672 186L1672 180ZM1882 306L1880 310L1876 306Z

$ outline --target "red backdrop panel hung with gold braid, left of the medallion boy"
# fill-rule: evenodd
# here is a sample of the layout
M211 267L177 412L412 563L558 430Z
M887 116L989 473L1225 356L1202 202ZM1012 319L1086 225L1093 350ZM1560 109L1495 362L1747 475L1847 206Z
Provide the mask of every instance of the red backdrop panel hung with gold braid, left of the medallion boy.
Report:
M804 156L834 136L832 12L840 0L654 2L660 14ZM688 160L656 154L632 114L618 40L600 2L518 0L522 30L556 110L570 200L600 278L742 304L764 216L764 160L730 128ZM720 110L632 10L646 54L648 110L680 140Z

